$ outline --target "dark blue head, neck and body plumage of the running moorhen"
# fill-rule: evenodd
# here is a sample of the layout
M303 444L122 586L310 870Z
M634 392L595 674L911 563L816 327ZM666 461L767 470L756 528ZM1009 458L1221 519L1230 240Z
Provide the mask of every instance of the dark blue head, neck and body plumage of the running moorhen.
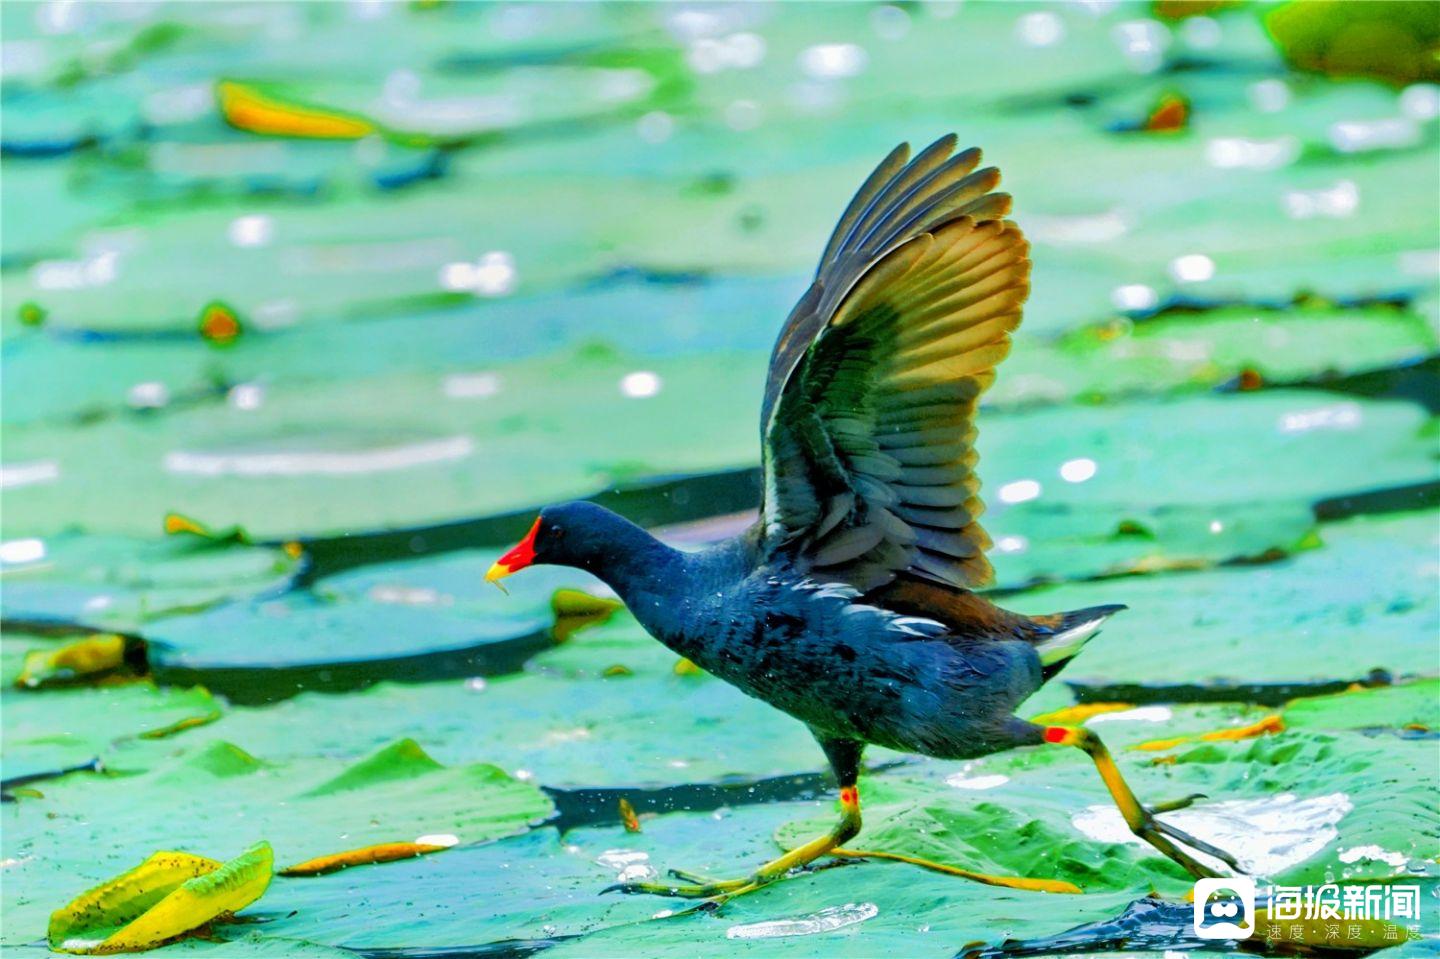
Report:
M657 639L821 739L942 759L1040 742L1014 711L1044 681L1037 645L1058 618L1007 613L972 593L968 621L945 623L937 609L887 609L814 580L753 531L684 553L590 503L543 510L533 544L531 562L595 573Z

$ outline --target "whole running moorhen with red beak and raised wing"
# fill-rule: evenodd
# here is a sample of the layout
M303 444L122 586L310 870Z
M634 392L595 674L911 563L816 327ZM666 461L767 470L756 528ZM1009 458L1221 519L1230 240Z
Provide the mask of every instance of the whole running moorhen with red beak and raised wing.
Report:
M1009 196L994 192L999 171L976 170L979 150L953 148L953 134L913 160L909 144L896 147L840 217L770 357L753 527L685 553L609 510L569 503L541 510L487 573L589 570L667 647L805 723L840 780L840 824L755 874L671 873L687 881L622 891L723 901L847 854L865 743L937 759L1077 746L1136 835L1195 877L1214 873L1176 844L1238 868L1153 815L1189 801L1142 806L1094 733L1015 716L1123 606L1024 616L973 592L991 576L975 408L1020 325L1030 259L1004 219Z

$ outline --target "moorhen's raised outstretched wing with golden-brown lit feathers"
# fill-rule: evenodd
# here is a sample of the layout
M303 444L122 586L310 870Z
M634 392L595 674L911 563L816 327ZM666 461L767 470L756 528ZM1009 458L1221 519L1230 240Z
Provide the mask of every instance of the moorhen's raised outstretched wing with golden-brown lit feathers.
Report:
M1028 246L979 151L897 147L851 200L770 359L766 541L868 590L991 575L975 408L1009 351Z

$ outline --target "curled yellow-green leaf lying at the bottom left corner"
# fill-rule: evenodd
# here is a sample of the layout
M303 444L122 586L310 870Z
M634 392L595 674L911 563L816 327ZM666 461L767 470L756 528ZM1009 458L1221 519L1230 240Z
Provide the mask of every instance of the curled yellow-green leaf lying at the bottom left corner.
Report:
M50 947L84 955L151 949L253 903L269 886L272 864L268 842L223 864L156 852L56 910Z

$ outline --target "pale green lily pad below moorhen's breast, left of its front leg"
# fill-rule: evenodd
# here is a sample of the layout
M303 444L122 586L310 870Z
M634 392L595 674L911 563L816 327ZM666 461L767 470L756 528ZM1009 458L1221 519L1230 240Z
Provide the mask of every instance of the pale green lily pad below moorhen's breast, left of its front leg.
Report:
M747 783L824 767L804 726L720 680L680 675L677 662L618 616L540 654L518 675L386 683L344 697L305 693L236 711L215 734L276 759L353 756L384 742L393 717L405 716L410 734L446 762L487 759L567 789ZM616 665L626 672L606 675ZM297 739L295 729L311 733ZM756 729L765 749L744 733Z

